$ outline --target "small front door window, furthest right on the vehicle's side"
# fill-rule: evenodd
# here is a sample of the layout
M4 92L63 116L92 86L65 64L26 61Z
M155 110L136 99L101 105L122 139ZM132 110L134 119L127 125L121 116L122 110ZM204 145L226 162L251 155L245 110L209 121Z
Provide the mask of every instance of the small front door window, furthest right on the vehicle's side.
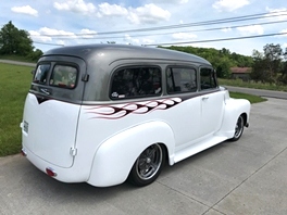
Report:
M204 89L214 89L216 88L216 79L213 69L211 68L200 68L200 88Z

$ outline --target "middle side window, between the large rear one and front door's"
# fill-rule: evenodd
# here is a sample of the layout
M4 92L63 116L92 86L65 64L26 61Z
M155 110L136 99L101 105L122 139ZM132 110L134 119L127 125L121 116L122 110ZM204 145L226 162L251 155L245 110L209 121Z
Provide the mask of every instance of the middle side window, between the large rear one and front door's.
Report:
M197 73L194 68L169 67L166 78L167 93L197 91Z

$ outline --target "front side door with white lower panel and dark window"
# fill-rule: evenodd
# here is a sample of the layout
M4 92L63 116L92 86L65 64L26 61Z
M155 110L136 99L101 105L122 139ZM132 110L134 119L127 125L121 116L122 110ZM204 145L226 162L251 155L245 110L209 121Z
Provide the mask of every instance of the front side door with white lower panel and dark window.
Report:
M201 136L212 135L222 124L224 113L224 92L220 90L215 72L211 67L200 67L199 83L201 93Z

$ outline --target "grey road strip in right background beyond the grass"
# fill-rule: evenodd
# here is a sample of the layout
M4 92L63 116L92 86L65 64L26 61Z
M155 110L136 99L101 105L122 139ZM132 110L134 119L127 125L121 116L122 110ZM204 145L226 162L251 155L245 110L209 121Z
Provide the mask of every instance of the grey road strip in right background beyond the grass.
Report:
M255 94L255 96L260 96L260 97L287 99L287 92L283 92L283 91L251 89L251 88L232 87L232 86L225 86L225 87L229 91L233 91L233 92L244 92L244 93Z

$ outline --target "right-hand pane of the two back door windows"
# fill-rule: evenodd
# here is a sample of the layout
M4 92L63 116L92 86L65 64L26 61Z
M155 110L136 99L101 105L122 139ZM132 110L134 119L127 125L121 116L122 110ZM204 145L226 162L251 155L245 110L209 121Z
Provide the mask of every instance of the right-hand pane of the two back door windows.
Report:
M73 89L76 86L77 68L70 65L55 65L50 78L50 86Z

